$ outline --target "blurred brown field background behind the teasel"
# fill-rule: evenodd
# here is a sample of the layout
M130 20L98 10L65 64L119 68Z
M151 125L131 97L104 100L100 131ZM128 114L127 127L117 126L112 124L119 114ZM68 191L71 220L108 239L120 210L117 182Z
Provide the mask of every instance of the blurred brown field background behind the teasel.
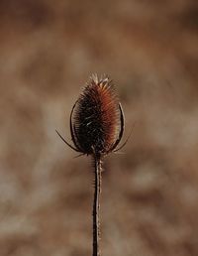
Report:
M105 159L102 255L197 256L196 0L0 1L0 255L91 255L91 161L55 129L92 72L136 122Z

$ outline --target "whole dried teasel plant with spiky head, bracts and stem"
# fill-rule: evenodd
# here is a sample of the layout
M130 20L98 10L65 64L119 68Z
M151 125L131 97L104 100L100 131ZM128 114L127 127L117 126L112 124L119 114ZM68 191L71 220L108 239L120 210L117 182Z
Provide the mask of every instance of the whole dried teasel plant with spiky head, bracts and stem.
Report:
M57 131L56 131L57 132ZM124 132L124 114L112 81L92 75L70 113L70 133L74 146L58 132L61 140L81 155L94 161L93 256L100 256L100 192L102 160L117 148Z

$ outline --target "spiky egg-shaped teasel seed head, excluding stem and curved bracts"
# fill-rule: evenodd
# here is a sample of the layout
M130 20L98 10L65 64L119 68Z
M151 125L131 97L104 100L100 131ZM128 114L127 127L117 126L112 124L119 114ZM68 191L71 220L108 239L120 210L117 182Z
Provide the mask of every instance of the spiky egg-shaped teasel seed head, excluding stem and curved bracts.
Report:
M92 75L73 113L75 142L84 154L105 155L118 136L119 101L107 76Z

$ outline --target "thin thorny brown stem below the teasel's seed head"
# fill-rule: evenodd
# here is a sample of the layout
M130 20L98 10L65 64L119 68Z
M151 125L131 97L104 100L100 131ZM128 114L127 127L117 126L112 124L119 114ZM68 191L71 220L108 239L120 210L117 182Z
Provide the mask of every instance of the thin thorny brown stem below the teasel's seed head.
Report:
M94 199L93 199L93 256L100 253L100 193L101 193L101 158L94 156Z

